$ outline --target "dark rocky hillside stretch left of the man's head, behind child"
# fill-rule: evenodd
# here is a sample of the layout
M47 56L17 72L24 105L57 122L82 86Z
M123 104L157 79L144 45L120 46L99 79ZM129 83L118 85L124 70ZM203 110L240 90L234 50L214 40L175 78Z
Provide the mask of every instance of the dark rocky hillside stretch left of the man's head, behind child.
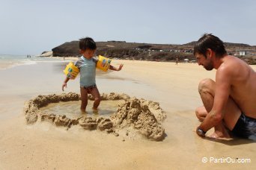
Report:
M135 42L97 42L97 55L135 60L176 60L193 58L192 46L162 45ZM52 48L53 57L79 56L79 42L65 42Z

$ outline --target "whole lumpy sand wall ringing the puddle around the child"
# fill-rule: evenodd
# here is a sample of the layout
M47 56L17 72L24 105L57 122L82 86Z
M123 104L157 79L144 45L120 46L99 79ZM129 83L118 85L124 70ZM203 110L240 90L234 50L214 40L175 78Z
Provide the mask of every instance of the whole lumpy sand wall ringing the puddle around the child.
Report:
M72 125L80 125L86 130L101 130L107 133L115 133L116 130L125 127L133 127L139 133L146 136L148 139L156 141L164 139L165 130L162 128L162 122L166 116L159 103L147 101L143 98L130 98L129 95L103 93L101 100L124 100L124 104L118 105L118 110L110 116L110 118L93 118L90 116L81 116L77 119L70 119L67 116L55 114L41 113L40 108L45 107L49 103L57 103L59 101L79 101L80 95L70 92L61 95L38 95L36 98L25 103L24 113L28 125L34 124L39 119L40 121L52 122L56 126L64 126L70 128ZM93 99L89 95L89 99Z

